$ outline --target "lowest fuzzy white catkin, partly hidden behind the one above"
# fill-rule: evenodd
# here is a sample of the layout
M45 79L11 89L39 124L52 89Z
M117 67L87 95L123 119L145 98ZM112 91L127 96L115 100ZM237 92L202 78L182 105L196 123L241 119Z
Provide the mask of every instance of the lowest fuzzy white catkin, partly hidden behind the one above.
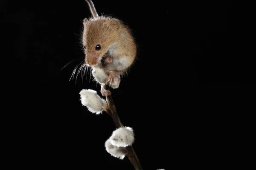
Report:
M126 154L126 149L125 147L117 147L111 144L110 139L108 139L105 142L105 148L108 153L110 153L112 156L119 158L119 159L124 159L125 154Z

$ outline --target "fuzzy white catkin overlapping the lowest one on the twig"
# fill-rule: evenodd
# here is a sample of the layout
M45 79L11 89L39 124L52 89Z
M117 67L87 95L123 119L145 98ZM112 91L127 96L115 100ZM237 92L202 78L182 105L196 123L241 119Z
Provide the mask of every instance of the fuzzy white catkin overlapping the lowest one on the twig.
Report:
M127 147L134 142L134 132L131 127L120 127L113 131L111 144L117 147Z

